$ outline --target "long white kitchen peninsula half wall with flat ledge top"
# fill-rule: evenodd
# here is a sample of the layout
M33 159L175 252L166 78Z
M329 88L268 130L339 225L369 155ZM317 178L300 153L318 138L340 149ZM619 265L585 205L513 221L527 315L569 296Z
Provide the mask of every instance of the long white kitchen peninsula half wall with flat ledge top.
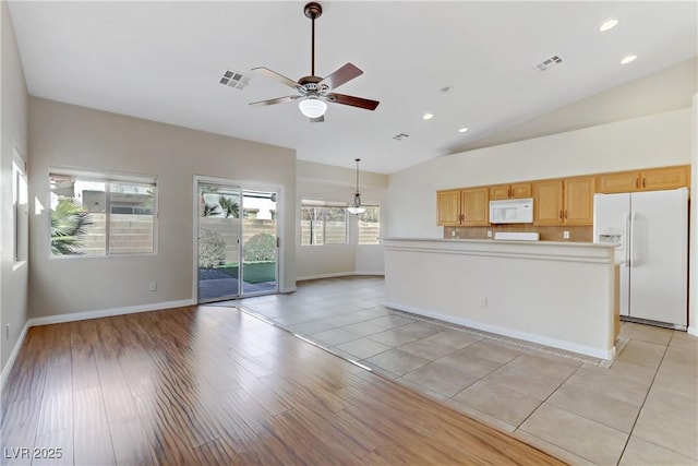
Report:
M611 359L613 246L386 239L385 306Z

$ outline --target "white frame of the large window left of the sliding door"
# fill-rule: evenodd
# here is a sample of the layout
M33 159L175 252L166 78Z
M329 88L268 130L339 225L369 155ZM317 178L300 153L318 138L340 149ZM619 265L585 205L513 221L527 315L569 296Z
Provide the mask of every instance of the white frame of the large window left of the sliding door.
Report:
M52 176L62 176L62 177L72 177L75 178L76 181L83 182L96 182L105 184L105 249L101 254L53 254L51 249L51 213L53 207L51 205L51 195L52 190L50 188L50 178ZM134 258L134 256L147 256L147 255L157 255L158 254L158 220L159 220L159 190L158 190L158 178L155 175L145 175L145 174L132 174L132 172L123 172L123 171L110 171L110 170L91 170L84 168L73 168L73 167L50 167L48 170L48 241L49 241L49 258L50 259L105 259L105 258ZM110 224L111 216L115 213L111 212L111 194L115 193L111 189L111 184L132 184L140 186L147 189L152 189L153 194L153 207L152 207L152 216L153 216L153 247L151 251L139 251L139 252L113 252L110 250L111 235L110 235ZM84 200L83 200L84 201Z

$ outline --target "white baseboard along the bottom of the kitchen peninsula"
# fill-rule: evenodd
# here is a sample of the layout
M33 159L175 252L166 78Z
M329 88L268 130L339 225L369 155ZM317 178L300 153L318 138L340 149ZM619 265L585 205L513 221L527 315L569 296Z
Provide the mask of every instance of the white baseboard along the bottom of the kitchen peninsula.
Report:
M520 332L513 328L501 327L496 325L483 324L481 322L471 321L449 314L442 314L424 309L412 308L409 306L402 306L397 302L385 302L386 308L397 309L399 311L411 312L418 315L424 315L432 319L438 319L440 321L450 322L456 325L462 325L470 328L480 330L483 332L494 333L497 335L508 336L512 338L522 339L525 342L535 343L538 345L550 346L553 348L564 349L566 351L578 353L580 355L591 356L599 359L613 359L615 356L615 346L609 350L594 348L587 345L579 345L573 342L566 342L563 339L551 338L543 335L537 335L527 332Z

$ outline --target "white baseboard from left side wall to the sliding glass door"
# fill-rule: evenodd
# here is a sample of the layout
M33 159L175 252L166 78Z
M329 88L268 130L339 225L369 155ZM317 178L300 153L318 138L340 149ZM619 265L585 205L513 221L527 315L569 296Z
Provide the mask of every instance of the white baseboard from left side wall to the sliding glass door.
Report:
M141 306L130 306L127 308L112 308L112 309L100 309L96 311L85 311L85 312L72 312L69 314L59 314L59 315L48 315L45 318L32 318L26 321L22 332L20 333L20 337L12 348L12 353L10 354L10 358L8 362L4 365L2 369L2 373L0 373L0 391L4 390L4 384L10 375L10 371L14 367L14 362L20 354L20 349L22 348L22 344L24 343L24 338L26 338L26 333L29 327L39 326L39 325L50 325L58 324L64 322L76 322L84 321L87 319L97 319L97 318L109 318L112 315L124 315L124 314L134 314L137 312L149 312L149 311L159 311L163 309L171 309L171 308L182 308L185 306L194 306L196 302L193 299L183 299L180 301L167 301L167 302L155 302L151 304L141 304Z

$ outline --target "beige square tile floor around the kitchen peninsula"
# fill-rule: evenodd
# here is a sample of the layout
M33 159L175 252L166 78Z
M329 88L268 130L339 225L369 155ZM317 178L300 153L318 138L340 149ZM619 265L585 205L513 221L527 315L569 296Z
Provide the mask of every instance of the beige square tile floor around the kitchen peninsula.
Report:
M382 277L347 277L217 306L256 313L571 464L698 464L698 338L623 323L619 354L603 361L383 301Z

